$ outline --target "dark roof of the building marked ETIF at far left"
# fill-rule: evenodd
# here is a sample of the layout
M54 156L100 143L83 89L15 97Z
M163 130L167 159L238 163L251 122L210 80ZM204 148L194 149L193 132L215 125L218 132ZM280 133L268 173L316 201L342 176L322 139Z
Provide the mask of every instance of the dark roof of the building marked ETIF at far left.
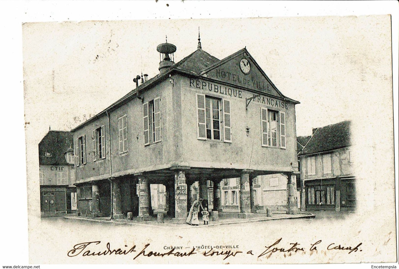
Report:
M39 143L40 164L67 164L65 152L73 152L73 133L49 131ZM46 156L46 152L51 156Z

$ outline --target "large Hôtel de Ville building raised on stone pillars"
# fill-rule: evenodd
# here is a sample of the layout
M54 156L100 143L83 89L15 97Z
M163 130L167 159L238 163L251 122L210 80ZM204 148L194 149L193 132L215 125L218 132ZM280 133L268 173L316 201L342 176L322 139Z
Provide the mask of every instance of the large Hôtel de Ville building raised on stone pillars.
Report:
M246 48L219 60L198 42L178 63L174 45L157 50L158 75L144 75L140 85L136 77L138 88L72 130L79 214L133 212L148 220L150 185L162 184L167 214L184 223L192 199L216 211L221 180L239 177L239 217L247 218L256 210L253 178L276 173L288 177L288 211L296 213L298 101L277 89Z

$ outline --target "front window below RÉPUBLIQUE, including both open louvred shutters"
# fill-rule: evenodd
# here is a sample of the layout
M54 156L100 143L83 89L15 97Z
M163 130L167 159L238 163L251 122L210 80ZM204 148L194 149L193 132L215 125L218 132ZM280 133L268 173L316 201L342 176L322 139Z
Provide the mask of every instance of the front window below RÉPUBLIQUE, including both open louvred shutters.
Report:
M196 93L196 106L197 138L231 143L230 101Z

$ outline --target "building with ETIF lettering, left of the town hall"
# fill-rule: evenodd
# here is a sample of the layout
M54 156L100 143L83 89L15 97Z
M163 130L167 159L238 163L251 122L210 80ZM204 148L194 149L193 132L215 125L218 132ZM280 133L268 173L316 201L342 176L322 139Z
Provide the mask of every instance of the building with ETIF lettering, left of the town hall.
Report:
M41 216L75 213L73 134L49 131L39 143Z

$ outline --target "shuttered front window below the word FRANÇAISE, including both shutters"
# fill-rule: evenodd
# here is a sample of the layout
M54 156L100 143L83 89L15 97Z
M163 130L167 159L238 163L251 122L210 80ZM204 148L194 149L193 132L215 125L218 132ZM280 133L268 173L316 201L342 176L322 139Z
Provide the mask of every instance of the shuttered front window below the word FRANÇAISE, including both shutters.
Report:
M286 148L285 112L261 107L262 146Z

